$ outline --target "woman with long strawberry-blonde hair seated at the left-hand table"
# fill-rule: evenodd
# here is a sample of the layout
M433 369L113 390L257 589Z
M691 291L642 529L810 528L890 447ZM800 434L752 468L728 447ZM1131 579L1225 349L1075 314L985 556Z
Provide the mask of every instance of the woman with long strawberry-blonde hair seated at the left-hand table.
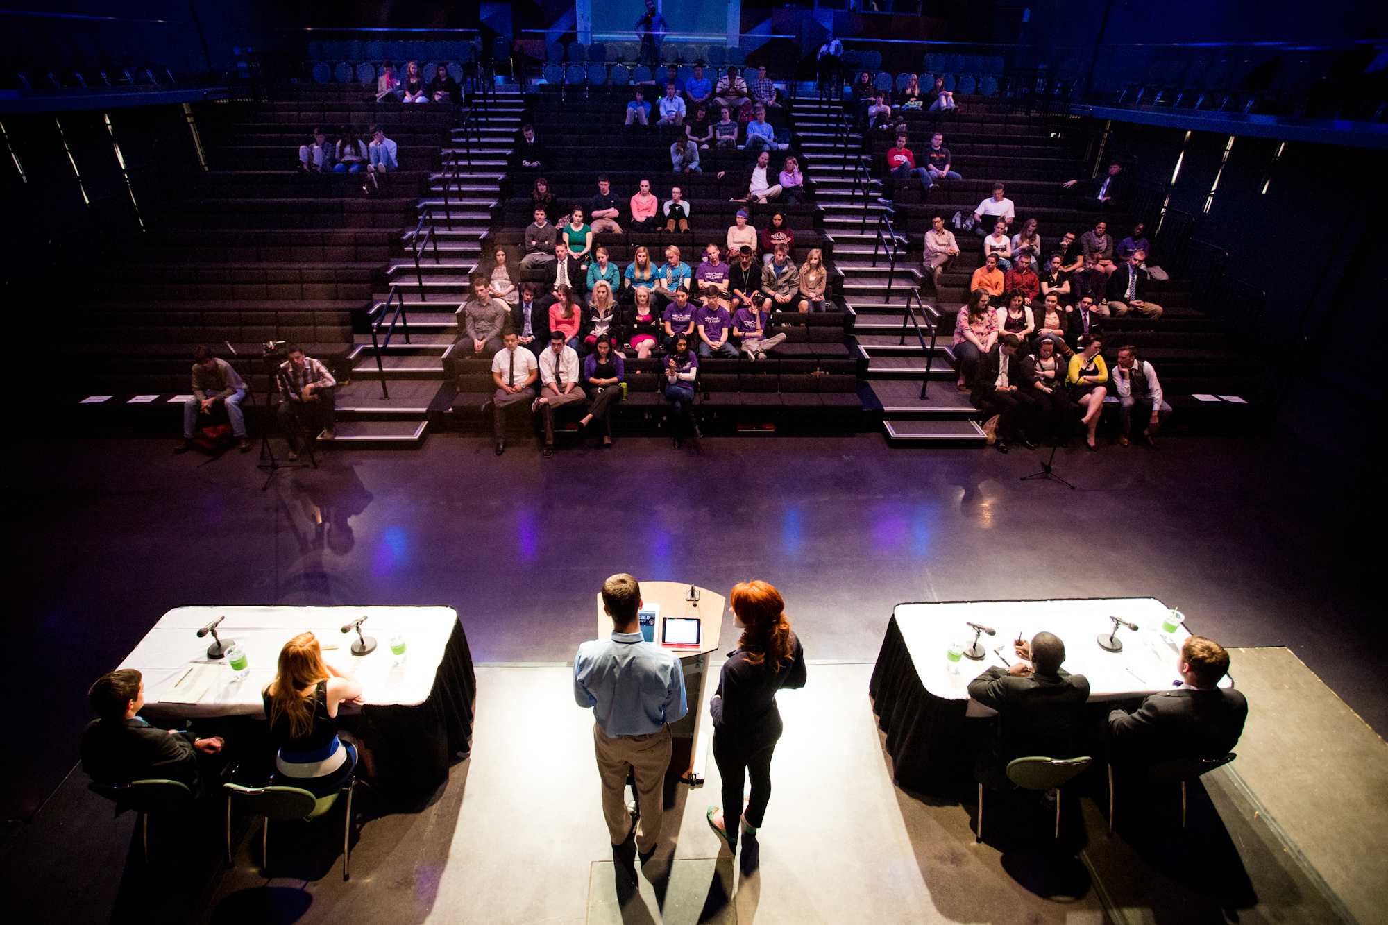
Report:
M336 792L357 767L357 747L337 736L337 708L361 703L361 682L323 661L314 633L279 651L275 681L261 692L280 785L315 796Z

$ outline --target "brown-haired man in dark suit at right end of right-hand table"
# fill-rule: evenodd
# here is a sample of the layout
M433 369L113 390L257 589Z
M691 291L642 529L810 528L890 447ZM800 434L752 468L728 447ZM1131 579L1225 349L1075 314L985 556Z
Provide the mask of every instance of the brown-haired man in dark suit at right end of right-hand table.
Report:
M1219 688L1228 674L1228 653L1217 642L1190 636L1177 669L1181 686L1142 701L1135 712L1109 714L1109 740L1116 765L1141 765L1167 758L1219 758L1244 733L1248 700L1233 688Z

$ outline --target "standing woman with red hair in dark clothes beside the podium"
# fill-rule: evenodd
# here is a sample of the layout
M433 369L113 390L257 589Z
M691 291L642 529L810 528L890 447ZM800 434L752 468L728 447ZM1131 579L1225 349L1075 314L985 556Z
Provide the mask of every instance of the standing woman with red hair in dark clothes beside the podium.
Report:
M781 733L776 692L805 686L805 653L786 619L786 601L768 582L733 586L733 622L743 629L737 649L723 662L713 694L713 760L723 778L723 807L743 801L743 781L752 794L738 825L729 828L723 808L708 808L708 824L737 851L738 832L755 836L772 797L772 753Z

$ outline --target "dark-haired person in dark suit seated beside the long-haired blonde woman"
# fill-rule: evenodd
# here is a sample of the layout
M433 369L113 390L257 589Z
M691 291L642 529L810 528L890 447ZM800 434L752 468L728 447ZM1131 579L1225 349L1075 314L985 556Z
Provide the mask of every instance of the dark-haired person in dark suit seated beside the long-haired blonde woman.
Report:
M101 675L87 690L87 703L97 718L82 733L82 771L96 783L178 781L201 793L197 757L218 754L225 740L158 729L142 719L144 678L139 671Z

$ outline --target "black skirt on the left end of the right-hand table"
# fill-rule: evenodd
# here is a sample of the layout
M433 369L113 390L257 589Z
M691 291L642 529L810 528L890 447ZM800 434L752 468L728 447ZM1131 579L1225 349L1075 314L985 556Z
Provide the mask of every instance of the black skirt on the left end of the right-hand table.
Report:
M970 785L973 756L994 724L966 722L967 700L945 700L926 690L895 615L887 624L867 693L877 725L887 733L898 786L954 797Z

